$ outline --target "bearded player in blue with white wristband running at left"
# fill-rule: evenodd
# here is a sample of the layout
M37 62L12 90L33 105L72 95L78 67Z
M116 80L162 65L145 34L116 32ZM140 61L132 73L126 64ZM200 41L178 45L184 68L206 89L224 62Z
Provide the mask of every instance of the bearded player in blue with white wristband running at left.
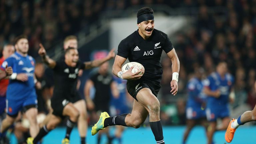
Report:
M39 131L37 124L37 96L34 76L35 60L28 55L28 40L26 36L18 36L15 41L16 52L7 58L1 69L6 65L13 68L6 92L7 116L1 124L1 133L4 133L15 121L18 112L23 110L30 122L30 135L35 137Z

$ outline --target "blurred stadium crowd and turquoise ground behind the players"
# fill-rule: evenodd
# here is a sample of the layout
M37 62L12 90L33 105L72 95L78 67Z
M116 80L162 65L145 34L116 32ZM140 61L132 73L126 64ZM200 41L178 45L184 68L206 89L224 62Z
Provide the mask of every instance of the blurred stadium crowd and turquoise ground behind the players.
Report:
M210 74L218 61L228 63L229 72L235 77L236 95L235 102L230 105L231 117L237 118L255 106L255 0L0 0L0 50L4 44L13 43L16 36L25 34L29 38L29 55L37 62L40 62L37 54L40 42L48 55L57 59L63 51L63 39L72 34L78 36L80 59L89 61L95 51L117 50L119 42L137 29L136 12L144 6L153 8L155 29L168 34L180 60L179 92L172 96L169 92L171 62L163 53L164 73L158 98L167 143L182 141L186 123L186 84L197 65ZM81 77L82 94L89 72L84 71ZM51 79L47 74L46 69L43 78ZM255 122L239 129L234 143L255 143L256 127L252 125ZM51 132L63 133L58 135L60 140L65 132L61 126ZM154 140L148 120L144 127L128 128L123 137L126 143L130 143L129 139L133 143L143 143L139 141L150 138ZM12 144L15 143L13 139L12 136ZM57 138L49 134L44 140L49 139ZM95 143L95 139L89 131L87 142ZM205 139L204 131L197 127L188 143L205 143ZM77 129L71 136L71 143L77 143L73 140L79 141ZM224 143L224 132L217 132L215 141Z

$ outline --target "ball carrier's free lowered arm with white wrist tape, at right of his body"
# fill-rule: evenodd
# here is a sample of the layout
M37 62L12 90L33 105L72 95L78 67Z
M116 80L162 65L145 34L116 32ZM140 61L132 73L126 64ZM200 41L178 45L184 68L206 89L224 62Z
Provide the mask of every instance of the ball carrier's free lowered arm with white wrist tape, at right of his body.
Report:
M173 48L170 52L168 52L167 56L172 61L172 72L173 72L173 74L175 74L174 72L179 73L179 71L180 71L180 61L179 61L179 58L176 54L175 49ZM176 95L177 92L178 92L178 78L176 78L176 80L172 79L172 81L171 81L171 93L173 95Z

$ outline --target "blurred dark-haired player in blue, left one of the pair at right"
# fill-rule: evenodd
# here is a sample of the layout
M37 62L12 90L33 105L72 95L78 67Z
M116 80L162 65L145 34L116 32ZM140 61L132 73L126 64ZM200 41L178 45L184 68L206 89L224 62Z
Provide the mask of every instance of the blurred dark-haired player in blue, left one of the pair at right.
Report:
M203 78L204 69L197 67L195 68L195 76L188 82L188 100L186 106L187 128L184 132L183 144L186 143L190 131L197 122L201 122L201 124L207 130L207 120L205 113L206 95L203 92Z

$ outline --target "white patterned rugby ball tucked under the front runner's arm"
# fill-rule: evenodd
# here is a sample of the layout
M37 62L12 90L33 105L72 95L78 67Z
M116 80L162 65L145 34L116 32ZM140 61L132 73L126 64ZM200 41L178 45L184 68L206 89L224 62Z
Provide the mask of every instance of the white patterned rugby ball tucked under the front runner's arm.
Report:
M133 66L132 73L136 73L137 71L142 70L139 73L139 75L144 74L145 69L144 69L143 65L140 63L137 63L137 62L129 62L129 63L123 65L122 72L123 73L127 72L132 66Z

